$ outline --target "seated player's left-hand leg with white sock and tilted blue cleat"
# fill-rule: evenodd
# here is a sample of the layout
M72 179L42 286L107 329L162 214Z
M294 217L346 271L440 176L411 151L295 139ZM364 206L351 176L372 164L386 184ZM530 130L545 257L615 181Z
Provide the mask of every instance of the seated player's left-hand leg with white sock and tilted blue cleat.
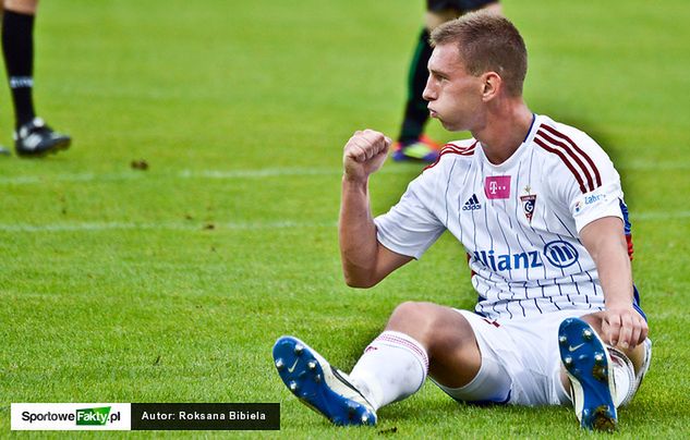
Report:
M458 399L482 392L477 400L505 400L510 392L505 371L489 369L474 383L485 368L472 327L456 310L429 303L398 306L350 375L292 337L278 340L274 357L286 386L340 425L374 424L379 407L416 392L427 374Z

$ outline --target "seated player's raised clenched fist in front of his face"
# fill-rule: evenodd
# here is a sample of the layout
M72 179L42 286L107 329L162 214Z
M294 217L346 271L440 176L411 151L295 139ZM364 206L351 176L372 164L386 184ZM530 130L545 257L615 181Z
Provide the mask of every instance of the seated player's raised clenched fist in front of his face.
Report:
M344 175L352 181L364 181L386 160L392 140L374 130L356 131L344 146Z

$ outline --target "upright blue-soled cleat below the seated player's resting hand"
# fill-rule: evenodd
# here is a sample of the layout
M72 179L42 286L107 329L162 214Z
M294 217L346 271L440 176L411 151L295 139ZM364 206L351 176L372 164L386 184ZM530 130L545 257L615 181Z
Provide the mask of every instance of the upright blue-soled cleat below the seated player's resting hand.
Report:
M560 359L572 384L572 405L586 429L613 431L618 418L614 404L612 359L604 342L589 323L569 318L558 329Z

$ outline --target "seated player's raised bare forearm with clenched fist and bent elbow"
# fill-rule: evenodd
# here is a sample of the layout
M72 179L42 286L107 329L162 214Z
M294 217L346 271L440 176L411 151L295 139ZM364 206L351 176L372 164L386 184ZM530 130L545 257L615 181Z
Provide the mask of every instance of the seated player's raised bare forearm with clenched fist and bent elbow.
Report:
M396 254L376 240L368 198L368 176L386 160L391 140L373 130L355 132L344 146L339 239L348 285L370 288L412 258Z

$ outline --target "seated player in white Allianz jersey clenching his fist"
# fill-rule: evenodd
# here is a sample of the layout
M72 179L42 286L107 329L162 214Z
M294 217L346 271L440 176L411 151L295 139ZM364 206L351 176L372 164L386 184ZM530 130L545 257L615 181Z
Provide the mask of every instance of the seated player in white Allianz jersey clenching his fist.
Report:
M399 305L349 375L282 337L278 372L335 424L375 424L378 408L429 376L458 401L571 403L582 427L614 429L651 358L619 175L585 133L528 108L526 49L507 19L470 13L432 40L429 113L473 138L447 145L373 219L368 179L391 139L354 133L343 152L342 267L349 285L373 286L449 230L467 250L476 307Z

